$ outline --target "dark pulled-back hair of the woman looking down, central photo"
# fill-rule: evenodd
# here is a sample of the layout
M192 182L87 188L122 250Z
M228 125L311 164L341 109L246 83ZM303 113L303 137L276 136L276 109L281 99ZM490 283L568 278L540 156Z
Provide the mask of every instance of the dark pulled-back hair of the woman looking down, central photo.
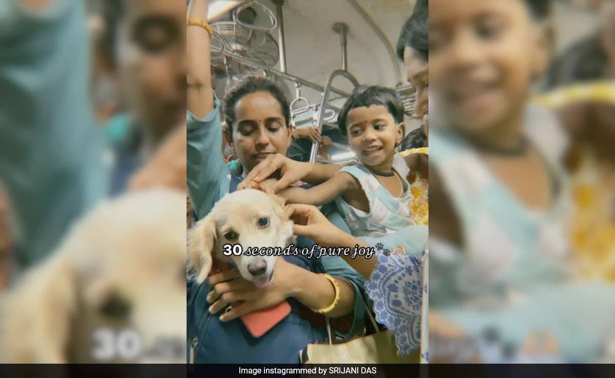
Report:
M226 122L228 132L231 133L231 135L232 127L237 121L235 106L242 98L256 92L266 92L274 96L280 104L280 108L282 108L282 114L284 114L286 126L288 127L290 125L290 103L288 102L288 98L284 94L284 91L282 91L282 89L275 82L266 79L265 77L248 76L239 82L239 84L237 84L231 92L224 96L224 122Z

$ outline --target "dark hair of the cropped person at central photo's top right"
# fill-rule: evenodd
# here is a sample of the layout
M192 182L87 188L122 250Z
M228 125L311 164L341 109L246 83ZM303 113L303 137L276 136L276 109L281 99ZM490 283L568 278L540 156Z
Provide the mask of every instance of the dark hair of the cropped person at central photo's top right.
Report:
M418 0L397 40L397 57L403 61L406 47L415 50L423 60L429 58L429 0Z

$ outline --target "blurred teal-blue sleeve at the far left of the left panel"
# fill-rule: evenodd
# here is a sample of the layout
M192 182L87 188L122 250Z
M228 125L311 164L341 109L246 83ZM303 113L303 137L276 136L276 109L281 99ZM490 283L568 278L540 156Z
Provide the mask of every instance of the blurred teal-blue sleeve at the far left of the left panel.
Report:
M0 179L22 267L49 254L108 190L89 50L83 1L57 0L36 14L0 1Z

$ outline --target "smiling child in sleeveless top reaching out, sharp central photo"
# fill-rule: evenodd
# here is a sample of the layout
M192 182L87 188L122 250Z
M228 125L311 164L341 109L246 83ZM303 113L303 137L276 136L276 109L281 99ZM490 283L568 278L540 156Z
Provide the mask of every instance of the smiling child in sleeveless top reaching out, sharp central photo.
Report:
M288 203L320 206L335 200L353 235L378 237L410 226L408 167L395 148L402 140L403 105L394 90L362 86L338 117L339 130L360 164L344 167L311 189L288 187Z

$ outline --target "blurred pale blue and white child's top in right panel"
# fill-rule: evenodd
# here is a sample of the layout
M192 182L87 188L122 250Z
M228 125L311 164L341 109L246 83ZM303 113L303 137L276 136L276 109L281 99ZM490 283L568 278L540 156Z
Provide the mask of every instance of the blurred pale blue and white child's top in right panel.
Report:
M495 326L517 347L547 331L568 360L595 361L615 325L615 286L574 282L566 242L570 199L560 166L568 141L557 120L530 108L525 128L560 189L549 211L523 205L454 132L441 124L430 132L429 162L453 203L464 245L458 250L431 238L429 309L471 336Z

